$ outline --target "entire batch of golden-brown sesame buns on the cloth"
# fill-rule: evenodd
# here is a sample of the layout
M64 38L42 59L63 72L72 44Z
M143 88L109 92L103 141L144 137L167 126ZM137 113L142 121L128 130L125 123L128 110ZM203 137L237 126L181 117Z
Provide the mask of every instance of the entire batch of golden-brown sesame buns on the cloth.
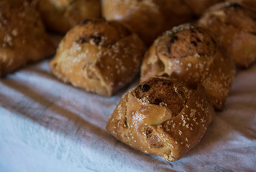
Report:
M111 96L141 73L106 130L177 161L204 136L214 108L224 109L235 65L256 59L255 2L221 1L0 1L0 76L54 53L41 14L65 34L49 64L63 82Z

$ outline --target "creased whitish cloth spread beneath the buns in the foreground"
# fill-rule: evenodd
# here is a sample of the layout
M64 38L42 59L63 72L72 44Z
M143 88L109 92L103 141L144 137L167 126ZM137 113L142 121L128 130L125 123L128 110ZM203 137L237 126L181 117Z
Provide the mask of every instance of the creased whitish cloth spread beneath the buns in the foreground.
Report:
M238 70L224 111L176 162L113 138L106 122L134 80L102 97L65 85L49 59L0 80L0 172L256 171L256 64Z

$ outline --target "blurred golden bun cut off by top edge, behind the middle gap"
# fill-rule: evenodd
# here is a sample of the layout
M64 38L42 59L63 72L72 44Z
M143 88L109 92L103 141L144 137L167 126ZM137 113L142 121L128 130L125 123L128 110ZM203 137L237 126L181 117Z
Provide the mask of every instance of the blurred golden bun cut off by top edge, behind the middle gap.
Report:
M128 24L150 45L166 29L192 18L186 4L176 0L103 0L102 15L107 20Z

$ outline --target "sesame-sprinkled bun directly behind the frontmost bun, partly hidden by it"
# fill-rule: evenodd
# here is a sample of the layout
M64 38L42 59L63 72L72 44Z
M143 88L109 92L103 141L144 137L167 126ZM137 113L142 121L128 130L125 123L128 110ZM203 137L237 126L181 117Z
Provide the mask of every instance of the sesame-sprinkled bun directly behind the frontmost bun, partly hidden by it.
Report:
M208 30L183 24L158 37L143 59L141 81L164 73L192 88L203 85L214 108L222 110L235 66Z

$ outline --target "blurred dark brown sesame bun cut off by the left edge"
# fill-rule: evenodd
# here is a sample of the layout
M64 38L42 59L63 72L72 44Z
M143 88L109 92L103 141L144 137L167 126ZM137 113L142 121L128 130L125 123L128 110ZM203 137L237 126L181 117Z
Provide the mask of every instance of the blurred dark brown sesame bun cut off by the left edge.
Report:
M25 0L0 1L0 77L55 52L35 6Z

